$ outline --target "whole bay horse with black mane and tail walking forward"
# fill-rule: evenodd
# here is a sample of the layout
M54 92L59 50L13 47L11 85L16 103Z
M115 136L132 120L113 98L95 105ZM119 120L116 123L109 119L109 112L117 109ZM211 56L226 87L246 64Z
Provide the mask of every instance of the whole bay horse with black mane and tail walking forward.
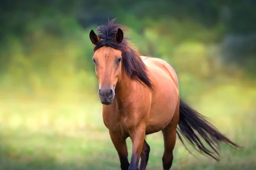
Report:
M176 134L198 151L219 161L218 143L239 145L221 134L207 119L180 99L175 70L162 59L140 56L116 19L90 31L93 62L103 104L103 122L118 153L121 170L145 170L150 147L145 136L163 132L163 169L172 167ZM204 139L212 150L207 149ZM128 161L126 139L132 141ZM185 146L185 145L184 145ZM186 146L185 146L186 147Z

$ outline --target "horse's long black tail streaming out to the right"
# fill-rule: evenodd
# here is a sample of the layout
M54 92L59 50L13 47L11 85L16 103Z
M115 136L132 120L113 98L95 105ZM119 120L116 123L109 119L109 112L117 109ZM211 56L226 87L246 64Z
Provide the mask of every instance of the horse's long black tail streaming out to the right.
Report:
M204 139L205 142L212 148L213 151L207 149L201 142L198 134ZM219 161L220 156L217 151L219 142L225 142L233 148L239 148L238 144L235 144L226 136L221 134L210 122L209 119L194 109L190 108L185 102L180 99L180 120L179 128L177 128L177 135L180 141L185 146L181 135L190 143L192 146L202 154L210 156L213 159ZM186 146L185 146L186 147ZM186 148L187 149L187 148Z

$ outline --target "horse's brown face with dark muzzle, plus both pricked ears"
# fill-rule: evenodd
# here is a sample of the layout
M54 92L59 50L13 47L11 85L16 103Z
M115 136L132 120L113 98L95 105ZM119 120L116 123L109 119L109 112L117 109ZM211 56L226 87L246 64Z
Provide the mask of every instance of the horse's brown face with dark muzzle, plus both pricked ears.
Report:
M122 30L121 32L118 31L114 38L114 40L120 43L122 40L118 39L119 36L123 36ZM94 32L92 33L92 31L90 39L96 45L100 41L99 37ZM95 73L99 80L99 98L102 104L110 105L115 97L116 84L121 78L122 52L109 46L103 46L95 51L93 62Z

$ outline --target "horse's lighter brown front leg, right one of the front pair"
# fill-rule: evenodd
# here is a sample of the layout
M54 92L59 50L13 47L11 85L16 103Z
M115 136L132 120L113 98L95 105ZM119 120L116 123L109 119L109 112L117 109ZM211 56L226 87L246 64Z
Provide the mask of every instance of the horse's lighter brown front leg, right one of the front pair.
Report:
M145 140L145 125L140 125L132 129L130 137L132 141L131 164L128 170L139 170L139 160Z

